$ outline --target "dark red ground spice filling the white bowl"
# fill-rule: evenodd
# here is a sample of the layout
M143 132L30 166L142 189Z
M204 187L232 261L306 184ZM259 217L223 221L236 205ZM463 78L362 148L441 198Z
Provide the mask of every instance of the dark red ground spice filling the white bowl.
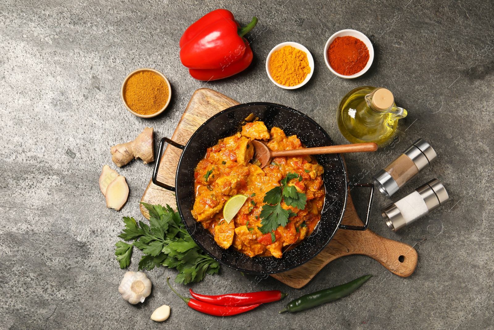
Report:
M328 48L329 65L341 75L362 71L369 61L369 49L362 40L351 36L338 37Z

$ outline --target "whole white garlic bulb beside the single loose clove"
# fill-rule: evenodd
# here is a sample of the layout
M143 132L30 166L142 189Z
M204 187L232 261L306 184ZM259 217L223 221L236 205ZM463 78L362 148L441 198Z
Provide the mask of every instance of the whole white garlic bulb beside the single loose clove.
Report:
M119 292L122 298L131 304L144 302L151 293L151 281L141 272L127 272L120 283Z

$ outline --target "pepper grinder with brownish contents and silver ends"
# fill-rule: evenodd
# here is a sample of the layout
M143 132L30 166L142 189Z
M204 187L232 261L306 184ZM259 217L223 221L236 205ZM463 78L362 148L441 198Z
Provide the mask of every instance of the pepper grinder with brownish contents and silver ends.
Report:
M374 175L372 180L386 197L391 197L436 158L437 154L432 146L418 139L386 168Z

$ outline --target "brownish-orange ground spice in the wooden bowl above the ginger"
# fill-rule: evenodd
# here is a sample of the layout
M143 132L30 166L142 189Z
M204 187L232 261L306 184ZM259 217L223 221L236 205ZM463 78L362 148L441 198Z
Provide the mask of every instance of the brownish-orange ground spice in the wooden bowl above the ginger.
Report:
M168 101L168 95L165 79L152 71L137 72L125 83L125 102L140 115L152 115L160 111Z

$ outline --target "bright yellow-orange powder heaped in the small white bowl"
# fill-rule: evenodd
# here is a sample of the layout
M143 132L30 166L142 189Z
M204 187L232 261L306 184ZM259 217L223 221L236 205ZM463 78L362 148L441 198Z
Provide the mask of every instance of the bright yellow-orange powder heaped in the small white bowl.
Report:
M278 84L296 86L305 80L311 68L305 51L285 46L271 54L269 71Z

